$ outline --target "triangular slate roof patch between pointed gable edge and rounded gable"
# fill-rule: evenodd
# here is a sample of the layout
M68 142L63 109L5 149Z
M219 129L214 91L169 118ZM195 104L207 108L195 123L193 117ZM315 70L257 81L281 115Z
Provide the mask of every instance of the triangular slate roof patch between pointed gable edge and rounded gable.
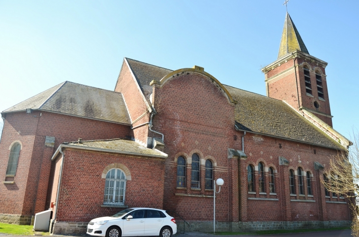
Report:
M159 81L167 74L173 72L173 70L151 65L134 59L125 59L127 60L133 74L135 75L137 83L139 84L146 99L149 99L150 94L152 93L152 87L150 86L150 82L152 80Z

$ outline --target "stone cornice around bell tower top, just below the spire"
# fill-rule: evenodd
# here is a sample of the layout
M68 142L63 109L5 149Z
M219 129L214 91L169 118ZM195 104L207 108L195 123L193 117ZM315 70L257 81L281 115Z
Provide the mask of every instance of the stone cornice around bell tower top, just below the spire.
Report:
M308 55L299 50L296 50L290 54L283 56L280 59L275 60L274 62L270 63L269 65L263 67L261 70L263 73L267 73L268 71L273 70L277 66L280 66L281 64L288 62L288 60L295 59L295 58L299 58L299 59L303 58L304 60L307 60L310 62L316 62L317 65L319 65L323 68L326 68L326 66L328 65L328 62L325 62L321 59L317 59L311 55Z

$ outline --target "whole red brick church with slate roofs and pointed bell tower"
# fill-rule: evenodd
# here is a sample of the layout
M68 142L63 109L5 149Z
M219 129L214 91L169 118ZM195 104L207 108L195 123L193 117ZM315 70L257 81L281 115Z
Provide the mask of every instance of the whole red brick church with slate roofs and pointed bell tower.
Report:
M278 58L262 69L267 96L201 66L128 58L114 91L65 81L34 95L1 113L0 222L51 208L51 233L85 234L93 218L153 207L179 231L210 232L222 178L219 231L350 226L353 200L321 183L352 145L332 128L327 64L287 13Z

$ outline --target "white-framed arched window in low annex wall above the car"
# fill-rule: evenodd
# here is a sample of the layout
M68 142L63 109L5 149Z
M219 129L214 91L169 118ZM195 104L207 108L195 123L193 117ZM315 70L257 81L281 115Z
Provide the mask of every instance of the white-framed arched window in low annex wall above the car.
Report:
M106 175L104 204L124 204L126 176L120 169L111 169Z

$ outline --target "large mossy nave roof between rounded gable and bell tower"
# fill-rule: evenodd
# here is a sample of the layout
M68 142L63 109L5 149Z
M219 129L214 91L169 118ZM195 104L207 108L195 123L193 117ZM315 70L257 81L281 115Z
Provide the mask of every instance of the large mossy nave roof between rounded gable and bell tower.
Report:
M238 102L235 107L239 130L343 149L327 134L303 118L285 102L224 85Z

